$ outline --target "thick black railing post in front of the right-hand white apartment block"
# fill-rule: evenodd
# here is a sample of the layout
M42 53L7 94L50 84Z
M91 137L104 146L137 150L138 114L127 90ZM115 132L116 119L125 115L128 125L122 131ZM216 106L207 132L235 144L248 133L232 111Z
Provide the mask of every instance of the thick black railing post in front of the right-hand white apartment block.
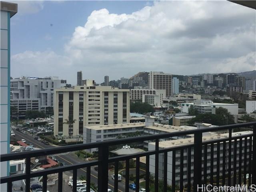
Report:
M194 134L194 191L202 186L202 132ZM201 192L198 188L198 192Z

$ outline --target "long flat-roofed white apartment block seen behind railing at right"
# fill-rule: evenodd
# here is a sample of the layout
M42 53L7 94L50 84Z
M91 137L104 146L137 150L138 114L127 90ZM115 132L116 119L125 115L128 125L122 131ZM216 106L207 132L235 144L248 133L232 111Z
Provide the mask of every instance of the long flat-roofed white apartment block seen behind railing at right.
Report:
M243 131L243 132L234 132L232 133L232 136L240 136L240 135L246 135L246 134L252 134L252 131ZM217 134L214 132L209 132L209 134L205 135L202 137L203 142L206 141L210 141L210 140L217 140L217 139L225 139L228 137L228 133L225 134ZM247 140L247 146L249 146L249 139ZM178 139L178 140L168 140L168 141L162 141L159 142L159 150L164 149L164 148L171 148L171 147L177 147L177 146L186 146L187 144L193 144L194 143L194 138L185 138L185 139ZM226 142L226 152L228 151L228 142ZM236 166L234 166L234 157L232 156L231 158L231 169L232 172L234 171L234 168L236 167L238 169L239 167L239 151L240 148L242 147L242 154L241 156L244 157L244 139L242 140L242 146L240 146L239 144L239 140L237 142L237 153L236 153ZM232 148L234 149L234 140L232 140ZM154 150L155 149L155 143L154 142L150 142L148 144L148 150ZM203 146L204 149L204 146ZM216 176L216 172L217 172L217 143L214 144L214 159L213 159L213 165L214 165L214 169L213 169L213 174ZM222 159L222 154L223 154L223 143L220 143L220 176L222 173L222 164L223 164L223 159ZM249 152L250 152L250 148L247 147L247 160L249 159ZM167 158L167 184L168 185L172 185L172 166L174 165L174 162L172 162L172 156L173 156L173 152L168 152L168 158ZM210 163L211 163L211 148L210 145L207 146L207 174L210 175ZM191 169L190 169L190 173L191 173L191 183L193 182L194 178L194 149L191 148L191 155L188 156L188 150L187 148L184 148L183 151L183 164L181 165L180 162L180 155L181 155L181 151L180 150L176 150L176 154L175 154L175 183L180 185L180 178L181 176L183 176L183 185L187 184L187 179L188 179L188 160L190 159L191 161ZM204 157L204 150L202 150L202 157ZM226 160L227 161L227 160ZM247 162L248 163L248 162ZM163 154L159 154L159 171L158 171L158 176L159 179L164 179L164 156ZM228 167L227 167L227 163L226 163L226 168L225 171L227 173ZM180 175L180 168L181 166L183 166L183 175ZM202 170L204 167L204 160L202 160ZM244 167L244 162L242 160L242 170ZM155 155L150 155L150 167L149 167L149 171L151 174L155 174ZM238 173L238 170L237 170ZM204 172L202 172L202 176L203 176ZM209 177L207 177L209 179ZM220 177L221 178L221 177Z

